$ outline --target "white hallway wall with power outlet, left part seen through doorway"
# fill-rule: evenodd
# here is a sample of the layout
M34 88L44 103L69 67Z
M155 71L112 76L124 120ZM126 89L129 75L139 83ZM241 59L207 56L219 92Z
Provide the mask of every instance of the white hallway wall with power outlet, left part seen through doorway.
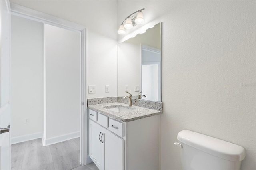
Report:
M43 24L12 16L11 34L13 143L42 135ZM26 118L28 124L25 124Z

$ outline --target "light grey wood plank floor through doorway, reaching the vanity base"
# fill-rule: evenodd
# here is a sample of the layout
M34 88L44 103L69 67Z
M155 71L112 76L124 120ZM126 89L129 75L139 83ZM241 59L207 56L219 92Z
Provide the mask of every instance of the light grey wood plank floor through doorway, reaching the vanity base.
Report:
M96 170L94 163L80 166L79 138L42 146L42 138L12 144L12 170ZM96 168L95 168L96 167ZM87 168L87 169L86 169Z

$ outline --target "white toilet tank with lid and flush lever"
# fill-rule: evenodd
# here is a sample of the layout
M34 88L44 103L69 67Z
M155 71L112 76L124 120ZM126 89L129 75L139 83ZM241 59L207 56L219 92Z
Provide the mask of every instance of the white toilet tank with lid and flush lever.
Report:
M182 170L240 170L245 157L242 146L189 130L179 132L177 139Z

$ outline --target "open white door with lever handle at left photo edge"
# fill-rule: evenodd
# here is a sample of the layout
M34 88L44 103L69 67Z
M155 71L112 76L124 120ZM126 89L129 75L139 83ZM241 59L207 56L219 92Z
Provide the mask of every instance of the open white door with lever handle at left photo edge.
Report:
M10 3L0 1L0 169L11 169L10 133Z

